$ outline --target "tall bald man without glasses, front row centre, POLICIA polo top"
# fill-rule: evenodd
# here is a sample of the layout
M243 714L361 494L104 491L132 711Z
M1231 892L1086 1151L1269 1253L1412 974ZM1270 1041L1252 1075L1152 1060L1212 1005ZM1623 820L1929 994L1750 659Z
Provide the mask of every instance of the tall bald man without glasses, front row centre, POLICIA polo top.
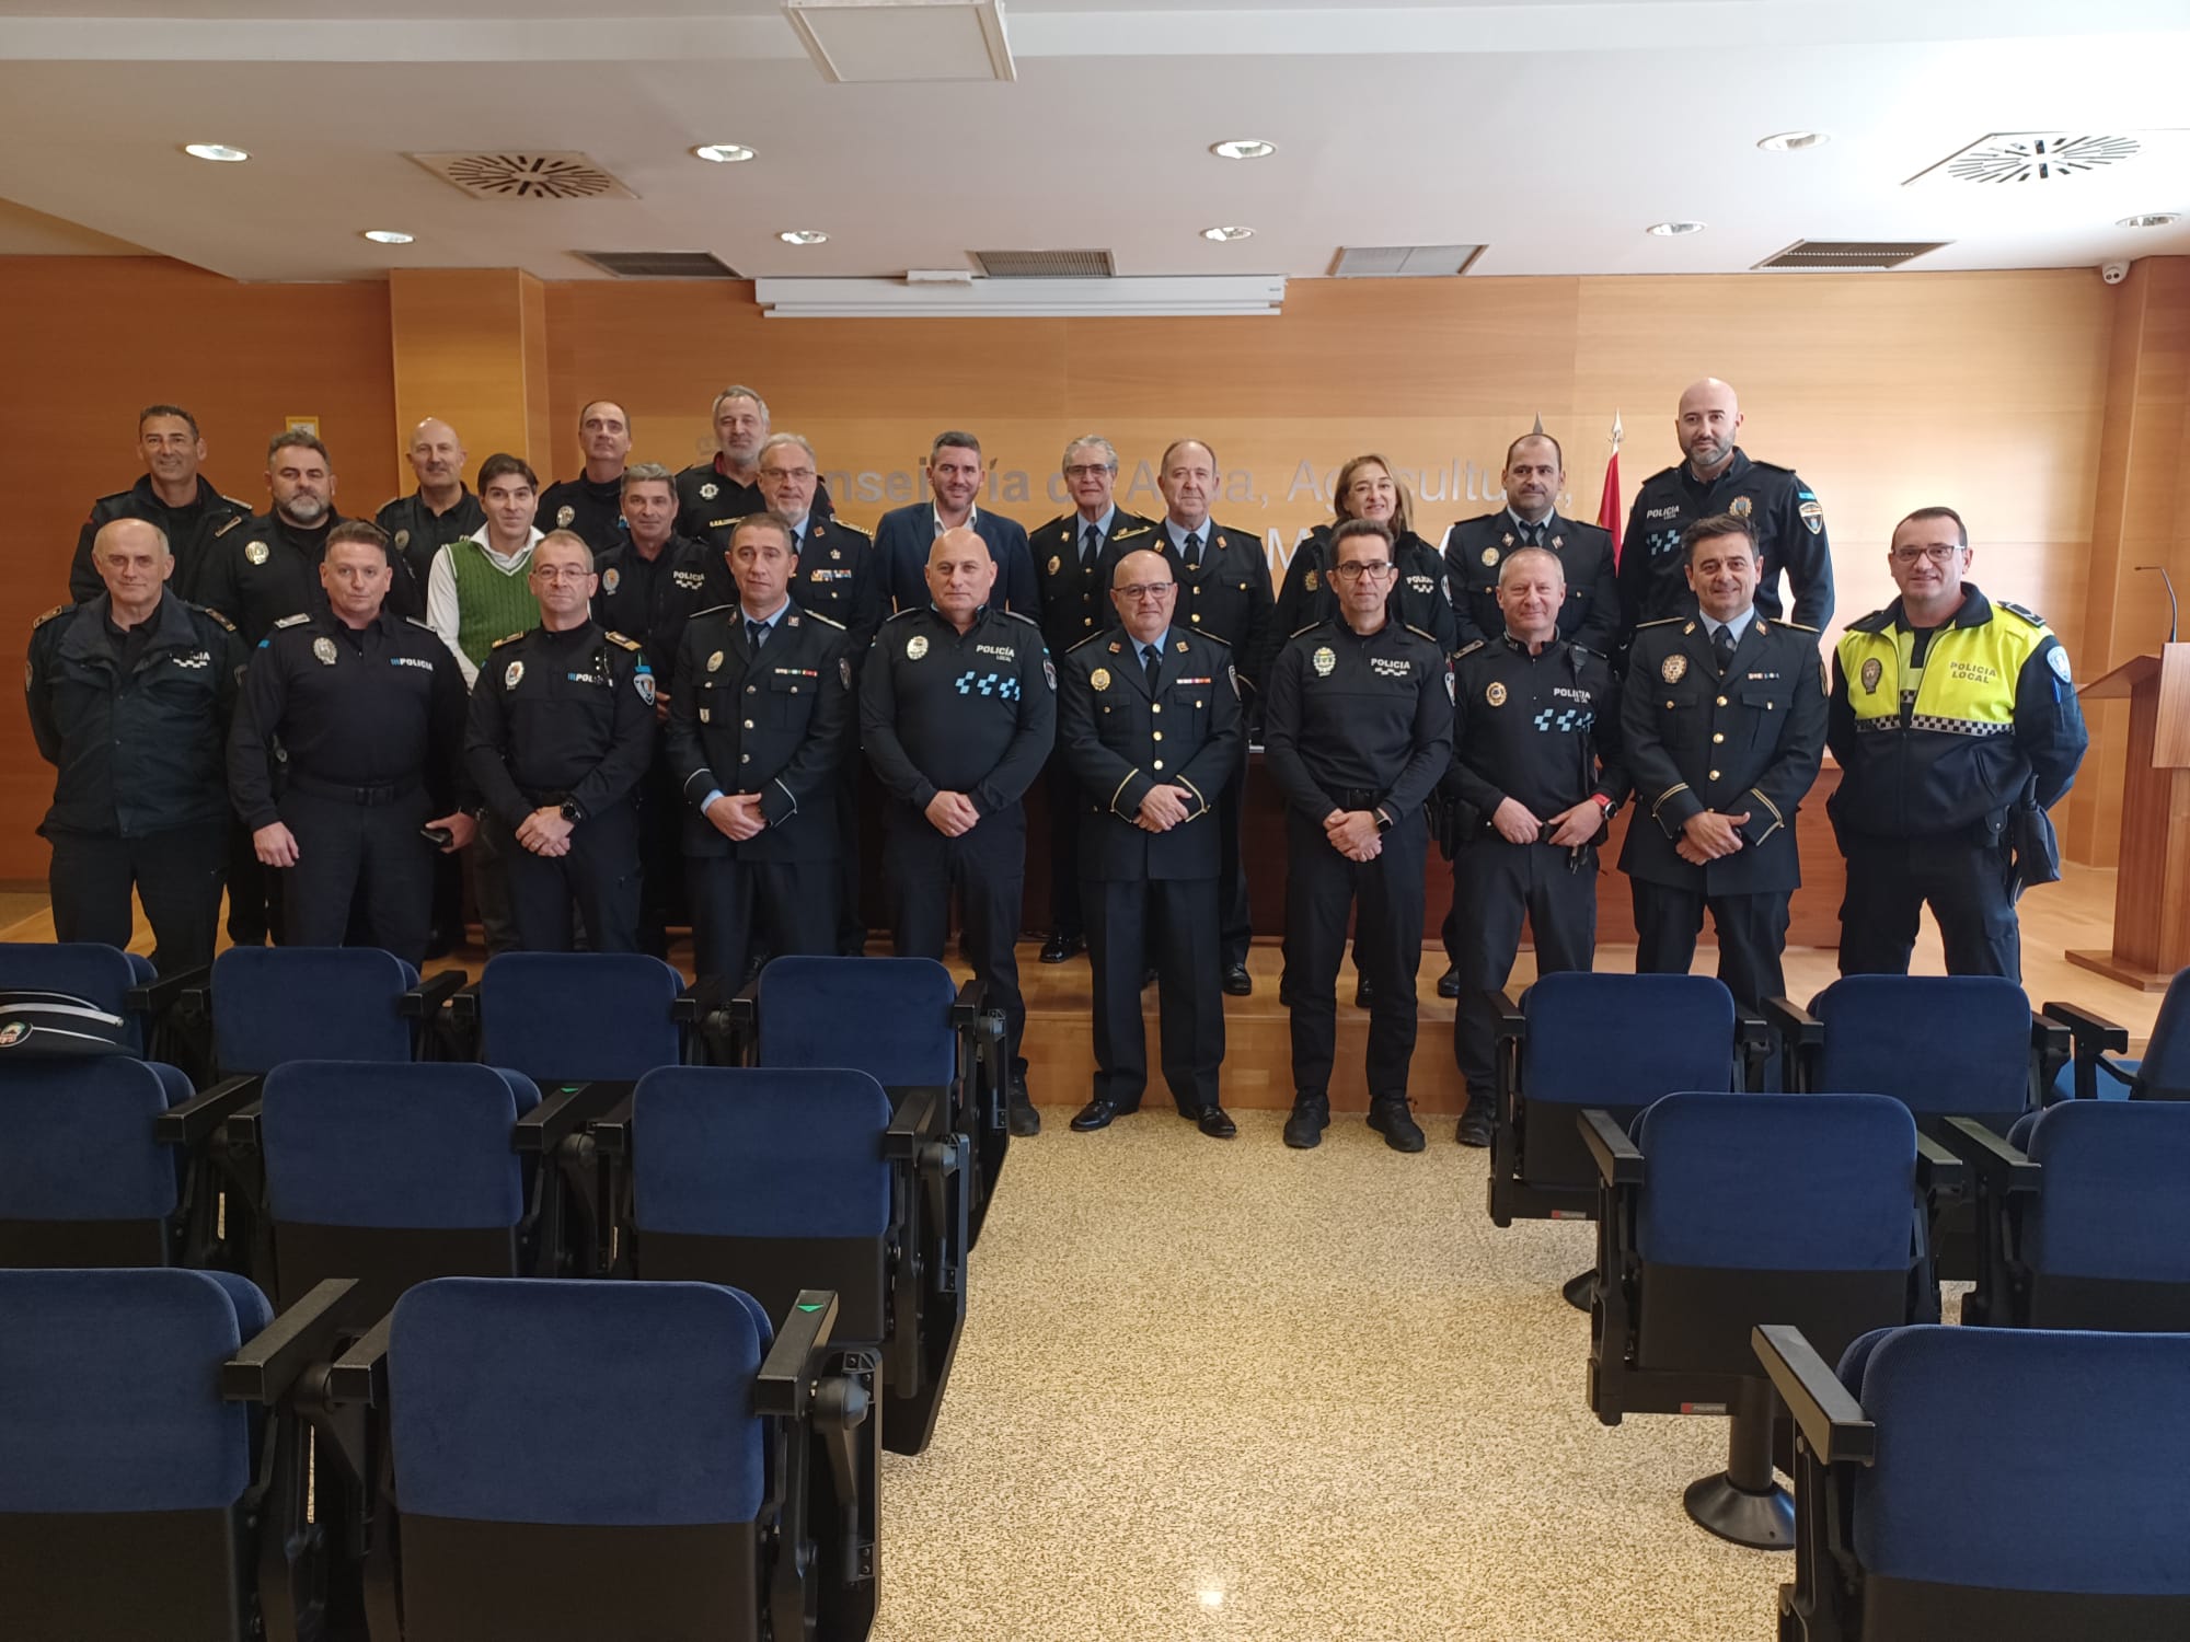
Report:
M858 681L867 762L889 793L883 878L894 900L898 957L944 955L950 891L959 948L990 1005L1003 1009L1012 1055L1012 1134L1036 1134L1018 1040L1018 904L1027 880L1021 797L1040 775L1058 727L1058 674L1031 617L990 602L996 560L972 530L929 547L924 609L883 622Z

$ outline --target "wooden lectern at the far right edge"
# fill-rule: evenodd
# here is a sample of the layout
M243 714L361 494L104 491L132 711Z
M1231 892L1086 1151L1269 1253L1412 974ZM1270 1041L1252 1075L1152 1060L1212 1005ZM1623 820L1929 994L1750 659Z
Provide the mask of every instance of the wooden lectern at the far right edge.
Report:
M2164 644L2080 692L2129 701L2122 865L2113 880L2113 948L2070 952L2111 981L2166 992L2190 968L2190 644Z

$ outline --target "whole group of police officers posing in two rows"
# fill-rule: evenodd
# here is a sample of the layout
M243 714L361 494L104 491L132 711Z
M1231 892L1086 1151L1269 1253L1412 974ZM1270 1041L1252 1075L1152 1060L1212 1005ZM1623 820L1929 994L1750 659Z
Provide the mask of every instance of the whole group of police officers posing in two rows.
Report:
M155 963L197 963L226 882L239 941L423 961L456 939L471 847L491 950L661 950L690 906L699 970L736 983L769 955L863 950L872 801L896 950L942 957L955 891L1029 1134L1021 799L1047 779L1040 957L1084 946L1093 970L1073 1128L1139 1108L1154 981L1165 1086L1229 1138L1259 736L1286 803L1286 1143L1329 1121L1349 917L1369 1123L1426 1143L1408 1066L1434 841L1459 1138L1485 1145L1489 998L1522 917L1540 972L1590 968L1597 849L1629 795L1638 970L1684 972L1708 911L1737 1001L1780 992L1794 821L1829 744L1842 970L1905 970L1929 904L1951 970L2017 974L2015 893L2048 876L2045 808L2085 749L2067 657L1967 580L1962 521L1923 508L1888 547L1901 598L1846 631L1826 687L1822 506L1739 449L1721 381L1682 396L1682 462L1638 490L1623 554L1557 512L1564 455L1537 431L1507 453L1505 506L1441 550L1384 458L1347 462L1281 589L1261 539L1211 519L1200 440L1163 453L1161 519L1117 506L1108 440L1073 440L1073 510L1027 532L979 506L979 440L946 431L931 499L867 536L758 392L727 388L712 416L714 458L670 473L633 464L629 414L593 401L580 477L537 490L493 455L477 495L456 429L427 420L418 488L366 523L335 512L315 436L272 440L252 514L199 475L191 414L147 409L145 477L92 508L74 604L31 641L59 937L125 944L136 887Z

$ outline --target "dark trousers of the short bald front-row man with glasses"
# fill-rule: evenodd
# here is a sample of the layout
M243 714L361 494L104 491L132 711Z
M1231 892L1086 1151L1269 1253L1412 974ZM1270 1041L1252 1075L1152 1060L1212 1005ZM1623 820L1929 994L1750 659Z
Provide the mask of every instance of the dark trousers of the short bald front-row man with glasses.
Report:
M1119 1112L1148 1088L1141 976L1156 965L1156 1044L1172 1103L1194 1117L1218 1103L1224 990L1218 968L1215 878L1088 878L1080 882L1095 972L1095 1099Z

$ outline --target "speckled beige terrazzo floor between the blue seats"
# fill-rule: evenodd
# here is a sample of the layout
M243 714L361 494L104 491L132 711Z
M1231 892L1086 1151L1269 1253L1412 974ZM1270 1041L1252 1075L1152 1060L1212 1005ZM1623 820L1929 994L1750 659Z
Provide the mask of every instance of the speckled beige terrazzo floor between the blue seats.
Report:
M876 1642L1770 1638L1791 1557L1688 1524L1717 1419L1588 1412L1592 1228L1483 1152L1154 1106L1014 1143L935 1443L885 1458Z

